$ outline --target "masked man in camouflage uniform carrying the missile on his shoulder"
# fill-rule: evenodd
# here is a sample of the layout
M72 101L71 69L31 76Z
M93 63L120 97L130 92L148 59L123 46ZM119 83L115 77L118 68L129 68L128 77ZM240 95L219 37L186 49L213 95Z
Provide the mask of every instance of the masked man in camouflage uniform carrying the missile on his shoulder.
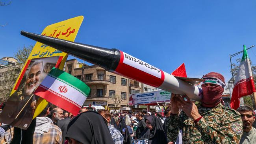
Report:
M167 137L175 142L182 129L183 143L238 144L243 132L240 114L221 104L224 77L216 72L203 76L200 104L195 105L187 96L172 94L171 116L167 120ZM187 101L184 100L186 97ZM178 115L179 108L182 109Z

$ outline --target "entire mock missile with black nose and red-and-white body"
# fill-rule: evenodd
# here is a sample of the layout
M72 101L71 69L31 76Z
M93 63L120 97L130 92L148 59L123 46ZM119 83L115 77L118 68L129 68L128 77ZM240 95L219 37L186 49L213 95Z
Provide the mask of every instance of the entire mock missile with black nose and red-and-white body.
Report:
M53 37L38 35L21 31L21 35L41 42L74 57L78 57L89 63L98 65L109 72L135 79L141 83L158 87L159 89L172 92L174 94L186 94L192 100L200 101L199 89L181 79L175 78L132 55L121 50L101 48L78 42L71 42Z

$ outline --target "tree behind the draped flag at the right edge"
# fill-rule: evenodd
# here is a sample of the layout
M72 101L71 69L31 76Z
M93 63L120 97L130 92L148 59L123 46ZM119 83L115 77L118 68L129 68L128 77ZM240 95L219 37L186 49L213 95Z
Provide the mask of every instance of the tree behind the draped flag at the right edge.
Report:
M239 68L239 65L240 65L240 61L241 61L241 59L239 58L239 59L236 59L236 63L232 63L234 80L236 80L236 74L237 74L237 71L238 71L238 68ZM256 68L255 68L254 64L252 64L251 61L250 61L250 64L251 64L251 68L252 68L252 77L253 77L254 85L255 85L255 82L256 82ZM232 74L231 68L230 68L230 74ZM234 83L233 83L232 80L230 81L230 86L232 88L234 87ZM226 89L229 89L229 86L227 86ZM251 94L249 96L244 96L243 100L244 100L245 105L251 107L252 109L256 109L253 94Z

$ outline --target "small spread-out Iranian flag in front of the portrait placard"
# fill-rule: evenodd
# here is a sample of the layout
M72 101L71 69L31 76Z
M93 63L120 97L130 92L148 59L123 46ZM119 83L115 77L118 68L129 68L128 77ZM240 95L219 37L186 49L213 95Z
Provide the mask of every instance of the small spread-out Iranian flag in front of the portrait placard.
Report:
M76 115L89 92L90 88L79 79L58 68L52 68L34 94Z

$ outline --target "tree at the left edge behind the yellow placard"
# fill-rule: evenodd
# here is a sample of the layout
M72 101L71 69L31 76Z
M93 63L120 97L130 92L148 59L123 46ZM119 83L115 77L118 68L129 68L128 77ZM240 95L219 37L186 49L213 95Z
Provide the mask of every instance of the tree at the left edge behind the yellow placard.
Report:
M11 90L19 77L19 74L22 70L22 67L26 63L28 56L32 51L33 46L30 45L28 47L24 46L23 48L19 48L17 53L14 54L14 57L18 60L16 65L9 65L4 68L5 72L1 73L2 78L0 79L0 102L6 102L11 94Z

